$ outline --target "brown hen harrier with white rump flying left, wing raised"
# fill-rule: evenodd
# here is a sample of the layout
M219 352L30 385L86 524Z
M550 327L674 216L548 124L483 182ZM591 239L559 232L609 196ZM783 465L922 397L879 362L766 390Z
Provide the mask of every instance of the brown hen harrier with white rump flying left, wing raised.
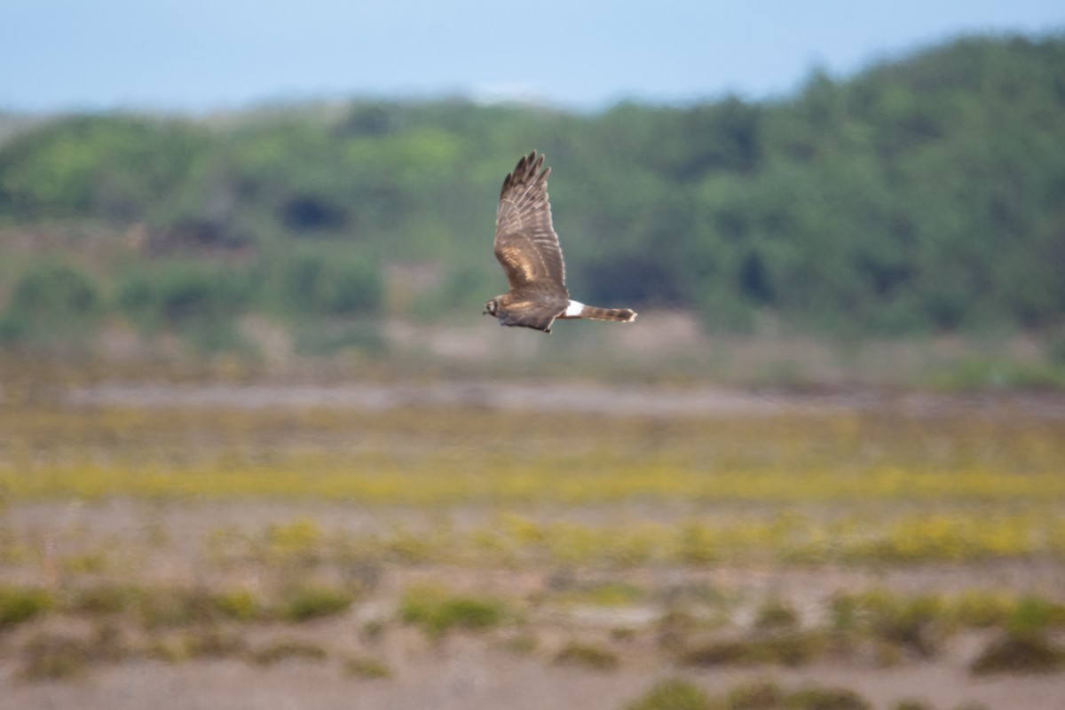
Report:
M547 176L543 155L534 150L518 161L503 181L495 211L495 258L503 264L510 291L485 304L501 326L522 326L551 332L555 318L636 319L632 309L604 309L570 300L566 263L558 234L551 226Z

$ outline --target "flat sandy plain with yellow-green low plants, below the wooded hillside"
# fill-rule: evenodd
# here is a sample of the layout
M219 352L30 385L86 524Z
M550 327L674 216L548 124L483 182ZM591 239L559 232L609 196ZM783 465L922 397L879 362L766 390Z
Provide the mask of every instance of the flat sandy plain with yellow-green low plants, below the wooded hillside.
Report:
M613 710L663 677L720 707L766 679L1065 697L1058 395L4 395L0 707Z

